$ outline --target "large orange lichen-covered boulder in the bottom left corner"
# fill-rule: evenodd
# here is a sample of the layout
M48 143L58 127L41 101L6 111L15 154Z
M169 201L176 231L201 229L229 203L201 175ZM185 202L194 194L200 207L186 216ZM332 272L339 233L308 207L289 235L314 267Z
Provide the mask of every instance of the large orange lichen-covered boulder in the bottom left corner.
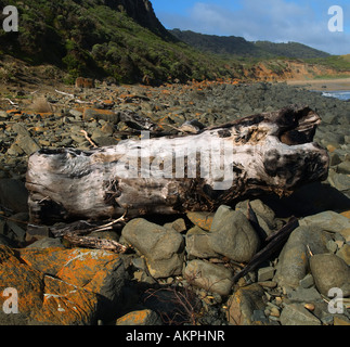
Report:
M28 321L94 324L116 314L121 301L125 269L114 253L0 246L0 292L17 291L18 311Z

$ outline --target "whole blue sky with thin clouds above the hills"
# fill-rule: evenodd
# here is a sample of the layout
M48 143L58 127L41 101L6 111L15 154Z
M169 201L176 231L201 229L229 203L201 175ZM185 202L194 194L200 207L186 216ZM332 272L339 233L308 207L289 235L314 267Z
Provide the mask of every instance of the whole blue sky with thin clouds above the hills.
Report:
M350 53L350 0L151 0L168 28L241 36L249 41L296 41L332 54ZM328 9L341 7L343 31L332 33Z

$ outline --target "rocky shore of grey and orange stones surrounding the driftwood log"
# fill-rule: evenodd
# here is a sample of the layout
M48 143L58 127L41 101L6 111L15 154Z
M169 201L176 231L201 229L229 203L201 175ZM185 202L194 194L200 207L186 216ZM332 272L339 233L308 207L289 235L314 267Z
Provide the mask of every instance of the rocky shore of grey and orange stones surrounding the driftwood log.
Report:
M28 228L27 159L40 149L114 145L138 137L145 118L177 134L193 119L220 125L290 104L309 105L322 118L314 141L329 152L325 182L282 200L138 218L94 234L131 246L125 255L70 247L49 227ZM286 83L217 81L14 89L0 106L0 293L17 288L20 306L20 314L0 310L0 324L350 324L349 102ZM248 202L268 235L291 216L299 227L271 259L233 283L260 247ZM329 311L333 287L342 291L342 311Z

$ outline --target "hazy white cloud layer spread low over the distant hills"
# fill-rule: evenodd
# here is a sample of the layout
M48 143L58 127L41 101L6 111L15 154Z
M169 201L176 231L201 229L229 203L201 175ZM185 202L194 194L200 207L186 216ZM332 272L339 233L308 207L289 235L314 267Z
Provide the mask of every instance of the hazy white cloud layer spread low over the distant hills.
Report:
M164 14L160 20L169 28L242 36L250 41L296 41L333 54L350 53L350 30L328 30L327 5L323 5L325 14L316 16L308 2L242 0L241 4L239 10L233 11L215 3L196 2L184 15Z

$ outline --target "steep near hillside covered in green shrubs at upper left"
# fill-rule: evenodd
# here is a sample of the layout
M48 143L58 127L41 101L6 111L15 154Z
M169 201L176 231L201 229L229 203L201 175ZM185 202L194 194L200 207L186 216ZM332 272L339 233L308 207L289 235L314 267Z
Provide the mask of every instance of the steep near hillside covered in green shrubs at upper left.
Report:
M138 82L231 77L170 35L148 0L0 0L20 12L20 33L0 30L0 50L31 64L51 63L79 75Z

